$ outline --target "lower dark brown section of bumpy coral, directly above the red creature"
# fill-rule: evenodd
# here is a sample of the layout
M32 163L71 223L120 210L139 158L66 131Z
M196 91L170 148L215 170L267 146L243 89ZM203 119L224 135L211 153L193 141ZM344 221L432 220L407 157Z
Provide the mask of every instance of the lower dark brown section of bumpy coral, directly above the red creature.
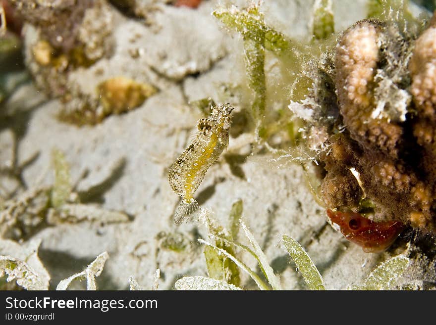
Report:
M346 132L330 140L331 150L320 156L327 171L321 186L327 207L378 222L429 227L433 194L409 165L362 150Z

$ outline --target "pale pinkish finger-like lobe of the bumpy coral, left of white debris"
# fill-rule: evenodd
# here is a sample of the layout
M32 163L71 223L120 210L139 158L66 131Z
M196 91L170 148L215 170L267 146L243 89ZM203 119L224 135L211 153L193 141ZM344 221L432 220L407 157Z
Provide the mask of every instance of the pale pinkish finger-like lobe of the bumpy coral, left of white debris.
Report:
M385 117L379 118L374 101L382 30L379 22L362 21L344 33L336 47L336 86L340 112L351 136L395 157L401 128Z

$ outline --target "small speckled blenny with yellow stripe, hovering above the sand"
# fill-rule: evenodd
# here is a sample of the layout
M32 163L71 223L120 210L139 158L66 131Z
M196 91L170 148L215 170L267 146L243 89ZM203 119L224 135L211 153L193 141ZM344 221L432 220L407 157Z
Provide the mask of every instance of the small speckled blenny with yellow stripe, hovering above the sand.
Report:
M232 110L228 103L212 106L211 116L198 121L195 139L169 168L169 185L182 199L174 213L176 225L200 208L193 195L228 145Z

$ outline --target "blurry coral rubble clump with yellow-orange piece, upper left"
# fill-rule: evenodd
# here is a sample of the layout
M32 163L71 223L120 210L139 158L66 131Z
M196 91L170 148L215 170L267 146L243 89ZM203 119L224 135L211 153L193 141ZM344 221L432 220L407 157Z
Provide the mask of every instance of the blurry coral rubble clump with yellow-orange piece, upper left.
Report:
M122 18L108 1L63 0L51 4L14 0L11 4L27 23L23 32L26 66L39 89L51 98L60 98L61 120L95 124L112 113L141 105L156 93L156 87L133 80L136 78L129 73L107 76L95 85L94 92L71 78L114 54L113 34Z

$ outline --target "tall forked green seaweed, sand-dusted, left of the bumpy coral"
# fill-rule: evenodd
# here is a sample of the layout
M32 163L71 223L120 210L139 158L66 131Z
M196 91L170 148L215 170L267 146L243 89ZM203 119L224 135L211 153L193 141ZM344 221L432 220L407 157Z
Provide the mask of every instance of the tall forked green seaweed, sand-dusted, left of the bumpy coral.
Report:
M213 15L229 31L238 32L242 36L248 86L254 95L252 116L256 122L257 139L268 140L274 135L274 132L286 131L287 122L290 120L289 116L274 112L273 107L267 102L270 96L265 71L266 50L271 51L278 58L284 84L292 84L291 99L298 100L304 99L313 81L310 78L298 78L297 76L304 75L302 71L305 69L305 64L320 54L326 44L322 42L303 44L286 38L280 32L266 25L264 14L258 5L252 5L245 9L238 9L235 6L218 8L213 12ZM324 16L327 17L327 13L320 17ZM320 17L317 16L315 20L317 24ZM326 26L330 24L327 18L324 20ZM325 33L327 33L327 27L325 29ZM274 98L277 97L277 92L281 93L283 89L277 89L277 87L271 89ZM283 94L286 97L289 96L289 92ZM277 124L281 127L277 128Z

